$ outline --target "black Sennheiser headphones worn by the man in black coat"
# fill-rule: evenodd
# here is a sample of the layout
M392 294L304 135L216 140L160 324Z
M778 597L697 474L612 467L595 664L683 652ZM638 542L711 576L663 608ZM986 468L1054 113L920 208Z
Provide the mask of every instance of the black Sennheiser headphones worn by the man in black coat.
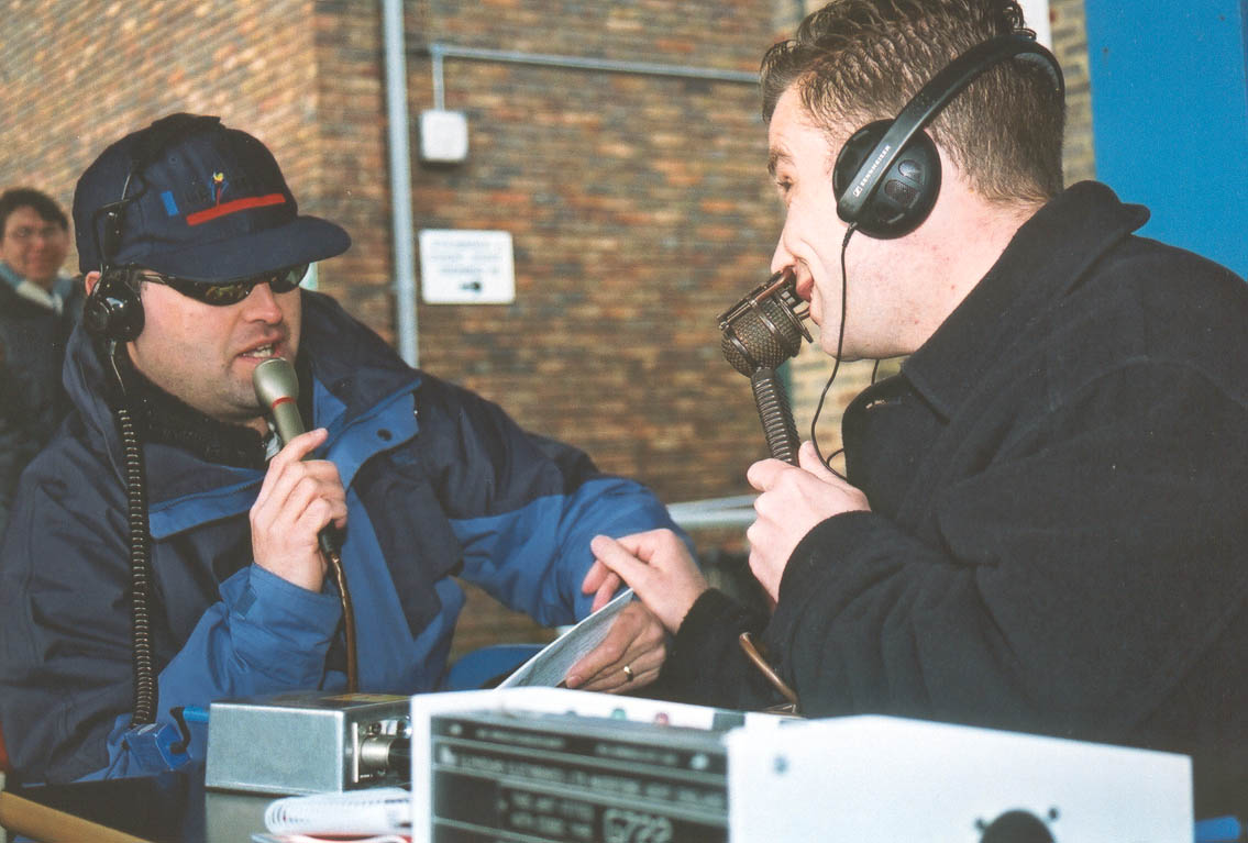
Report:
M894 120L877 120L850 136L832 167L837 216L880 239L922 224L940 193L940 156L924 126L977 76L1016 56L1043 67L1065 94L1057 59L1035 36L1011 32L977 44L924 85Z

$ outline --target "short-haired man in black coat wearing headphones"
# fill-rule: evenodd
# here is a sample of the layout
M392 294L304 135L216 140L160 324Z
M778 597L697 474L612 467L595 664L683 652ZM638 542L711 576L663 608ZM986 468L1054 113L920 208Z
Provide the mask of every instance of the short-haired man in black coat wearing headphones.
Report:
M846 410L847 478L810 443L750 466L774 612L661 531L593 546L690 701L784 685L810 716L1179 751L1209 816L1248 803L1248 288L1062 190L1060 71L1021 27L1012 0L840 0L764 60L773 269L829 354L909 355Z

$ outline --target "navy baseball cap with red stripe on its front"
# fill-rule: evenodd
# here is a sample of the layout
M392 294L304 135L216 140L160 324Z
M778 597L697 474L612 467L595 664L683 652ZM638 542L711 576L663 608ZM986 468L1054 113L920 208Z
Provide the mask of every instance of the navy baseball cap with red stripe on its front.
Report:
M84 273L134 264L205 282L323 261L351 246L334 223L300 216L263 143L186 113L127 135L86 168L74 231Z

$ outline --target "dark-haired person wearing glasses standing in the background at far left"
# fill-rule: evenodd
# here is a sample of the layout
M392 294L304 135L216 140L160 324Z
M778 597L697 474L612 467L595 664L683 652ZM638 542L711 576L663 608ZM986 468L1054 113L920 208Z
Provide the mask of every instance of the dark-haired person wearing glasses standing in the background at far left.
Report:
M69 224L42 191L0 193L0 535L21 470L66 409L61 362L82 299L61 272Z

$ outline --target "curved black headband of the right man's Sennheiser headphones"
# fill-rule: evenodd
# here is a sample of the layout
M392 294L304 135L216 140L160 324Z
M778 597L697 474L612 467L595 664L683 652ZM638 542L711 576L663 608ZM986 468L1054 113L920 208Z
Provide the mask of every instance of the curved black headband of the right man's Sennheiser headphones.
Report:
M847 181L846 188L836 198L836 212L841 219L854 221L860 217L862 208L901 152L950 100L993 65L1015 57L1043 67L1052 77L1057 92L1065 94L1066 84L1057 59L1045 46L1037 44L1033 36L1011 32L975 45L936 74L897 112L884 137L862 158L862 163Z

